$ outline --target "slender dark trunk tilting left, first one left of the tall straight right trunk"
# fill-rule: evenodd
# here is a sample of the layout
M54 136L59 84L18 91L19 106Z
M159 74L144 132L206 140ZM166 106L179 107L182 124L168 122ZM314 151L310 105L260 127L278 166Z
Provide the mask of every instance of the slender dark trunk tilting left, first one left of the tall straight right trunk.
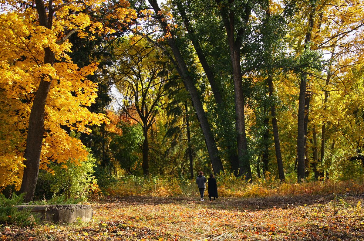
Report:
M273 96L273 78L272 75L268 77L268 88L269 88L269 96ZM283 162L282 162L282 154L281 154L281 143L279 141L279 134L278 134L278 124L276 118L276 104L272 103L270 107L270 115L272 116L272 127L273 127L273 138L274 138L274 147L276 149L276 159L277 159L277 166L278 166L278 175L281 182L284 182L284 169L283 169Z

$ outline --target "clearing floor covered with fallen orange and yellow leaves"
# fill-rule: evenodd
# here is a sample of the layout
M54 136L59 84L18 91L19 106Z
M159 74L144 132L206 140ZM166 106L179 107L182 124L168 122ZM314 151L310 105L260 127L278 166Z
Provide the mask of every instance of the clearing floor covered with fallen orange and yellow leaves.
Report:
M0 240L364 240L364 194L333 199L104 197L90 223L0 225Z

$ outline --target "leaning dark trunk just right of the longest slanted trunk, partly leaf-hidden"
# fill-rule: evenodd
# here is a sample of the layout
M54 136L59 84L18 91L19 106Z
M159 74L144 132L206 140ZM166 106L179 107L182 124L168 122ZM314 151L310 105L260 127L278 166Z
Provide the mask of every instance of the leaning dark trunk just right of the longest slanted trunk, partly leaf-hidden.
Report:
M196 51L198 59L201 63L201 66L206 74L207 80L209 80L209 84L210 84L211 90L214 94L214 98L217 103L218 109L223 110L225 108L225 106L223 103L223 98L221 96L220 88L218 87L218 84L215 80L213 71L211 70L209 64L207 63L206 57L203 54L202 48L198 42L198 37L196 36L193 27L190 25L190 21L187 18L185 8L183 7L181 1L177 1L177 7L178 7L178 11L181 14L181 17L183 19L183 23L187 29L187 32L190 36L191 42L195 48L195 51ZM221 111L221 112L223 112L223 111ZM224 118L224 116L220 116L220 118ZM224 123L223 123L223 132L224 132L223 138L225 138L225 139L231 138L231 136L229 134L230 131L228 128L229 127L226 124L224 125ZM227 148L227 152L229 155L230 165L232 167L232 170L234 171L234 174L236 176L238 176L239 159L238 159L238 155L236 153L236 148L234 148L234 146L233 146L234 144L229 140L226 140L225 143L227 143L226 148Z

